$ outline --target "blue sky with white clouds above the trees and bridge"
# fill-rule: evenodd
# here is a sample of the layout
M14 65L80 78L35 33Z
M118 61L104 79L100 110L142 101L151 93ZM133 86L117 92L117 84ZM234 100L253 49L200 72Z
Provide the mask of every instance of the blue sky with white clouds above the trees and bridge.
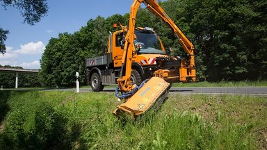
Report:
M34 26L23 24L19 10L0 5L0 27L9 30L6 53L0 54L0 65L40 69L40 58L50 38L58 33L74 33L89 19L128 13L133 0L47 0L49 12ZM115 22L117 23L117 22Z

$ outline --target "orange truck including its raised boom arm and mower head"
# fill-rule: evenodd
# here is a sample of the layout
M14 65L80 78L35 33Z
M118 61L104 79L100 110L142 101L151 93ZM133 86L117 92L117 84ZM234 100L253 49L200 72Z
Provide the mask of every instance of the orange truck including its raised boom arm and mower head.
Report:
M168 55L152 28L136 27L141 3L172 29L188 54L187 60ZM115 95L125 101L113 111L115 116L142 115L163 103L170 83L196 81L194 46L156 0L133 0L129 26L120 27L120 31L110 33L104 56L86 59L87 78L93 91L118 84Z

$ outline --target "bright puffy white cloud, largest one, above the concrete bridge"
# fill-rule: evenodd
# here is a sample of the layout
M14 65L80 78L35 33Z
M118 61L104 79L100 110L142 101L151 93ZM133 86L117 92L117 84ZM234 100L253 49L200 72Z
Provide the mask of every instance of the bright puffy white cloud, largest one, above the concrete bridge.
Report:
M20 49L16 50L15 53L21 53L26 55L35 55L43 53L45 45L39 42L29 42L28 44L20 45Z

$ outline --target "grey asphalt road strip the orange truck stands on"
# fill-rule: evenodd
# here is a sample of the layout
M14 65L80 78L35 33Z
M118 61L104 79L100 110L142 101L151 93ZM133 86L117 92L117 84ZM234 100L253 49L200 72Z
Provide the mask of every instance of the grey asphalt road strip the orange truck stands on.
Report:
M47 89L48 90L48 89ZM76 91L71 89L54 89ZM81 88L80 92L90 92L90 88ZM103 92L114 92L114 88L104 88ZM199 87L199 88L170 88L170 93L177 94L250 94L267 95L267 87Z

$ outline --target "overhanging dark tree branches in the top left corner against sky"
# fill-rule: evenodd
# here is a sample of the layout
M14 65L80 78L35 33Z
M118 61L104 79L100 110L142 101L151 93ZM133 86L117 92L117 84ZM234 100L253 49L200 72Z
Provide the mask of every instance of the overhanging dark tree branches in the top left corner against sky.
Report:
M47 0L0 0L1 6L7 9L8 6L17 8L24 17L24 23L34 25L40 22L41 18L47 14L48 6ZM6 46L4 42L6 41L9 31L0 28L0 52L4 53L6 51Z

